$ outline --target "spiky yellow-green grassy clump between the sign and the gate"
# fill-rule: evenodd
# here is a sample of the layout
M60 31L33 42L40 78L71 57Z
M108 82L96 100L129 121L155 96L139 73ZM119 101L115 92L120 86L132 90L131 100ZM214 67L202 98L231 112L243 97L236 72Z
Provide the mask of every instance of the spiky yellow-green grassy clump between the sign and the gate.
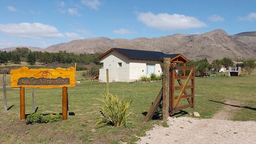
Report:
M126 126L128 124L128 118L131 112L128 112L129 107L132 103L132 100L118 98L113 94L105 92L102 94L100 99L102 106L100 107L100 112L102 114L94 127L100 128L102 126L111 125L111 126Z

